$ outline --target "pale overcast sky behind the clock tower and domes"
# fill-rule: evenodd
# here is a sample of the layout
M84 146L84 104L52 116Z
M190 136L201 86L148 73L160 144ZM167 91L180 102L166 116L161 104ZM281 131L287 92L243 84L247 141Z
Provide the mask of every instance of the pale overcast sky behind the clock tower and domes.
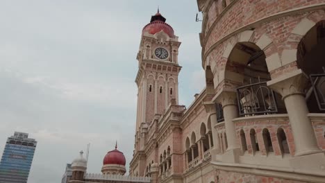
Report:
M135 57L158 5L182 42L179 98L188 106L204 86L196 1L0 1L0 155L15 131L36 139L28 183L60 182L88 143L89 173L100 173L115 140L128 169Z

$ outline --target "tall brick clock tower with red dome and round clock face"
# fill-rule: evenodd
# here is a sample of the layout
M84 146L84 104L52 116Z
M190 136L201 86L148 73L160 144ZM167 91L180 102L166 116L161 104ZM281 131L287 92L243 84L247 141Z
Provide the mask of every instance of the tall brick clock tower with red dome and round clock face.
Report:
M135 125L135 150L133 160L145 148L142 138L156 114L164 114L169 105L178 104L178 48L181 42L174 35L172 26L167 24L159 10L144 26L137 55L139 64L135 82L138 85L138 106ZM141 159L141 158L140 158ZM143 176L140 162L131 162L131 173Z

